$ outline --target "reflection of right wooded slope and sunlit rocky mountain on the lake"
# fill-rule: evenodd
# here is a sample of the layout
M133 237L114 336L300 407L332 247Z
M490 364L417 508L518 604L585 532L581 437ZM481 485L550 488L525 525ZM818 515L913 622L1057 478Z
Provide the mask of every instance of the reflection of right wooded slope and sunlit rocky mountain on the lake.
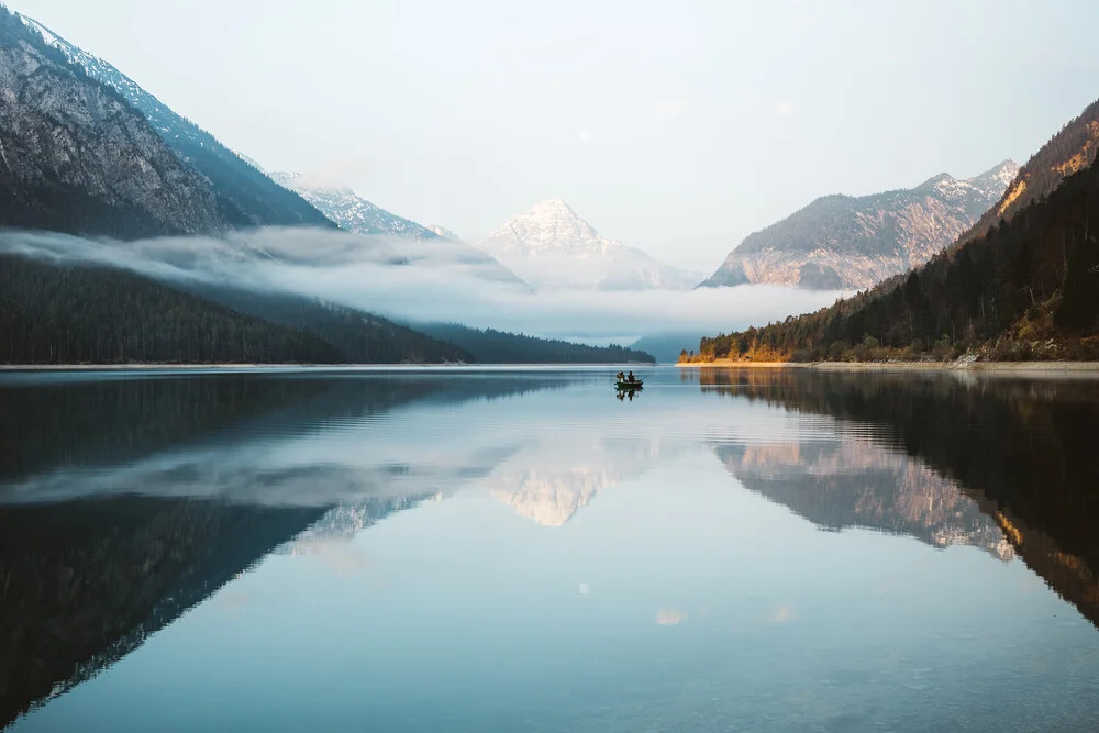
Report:
M792 460L789 451L802 446L763 467L736 447L717 448L750 488L822 526L972 544L1003 559L1018 553L1099 625L1099 381L797 369L688 378L696 376L717 395L836 419L831 448ZM846 425L856 430L845 438Z

